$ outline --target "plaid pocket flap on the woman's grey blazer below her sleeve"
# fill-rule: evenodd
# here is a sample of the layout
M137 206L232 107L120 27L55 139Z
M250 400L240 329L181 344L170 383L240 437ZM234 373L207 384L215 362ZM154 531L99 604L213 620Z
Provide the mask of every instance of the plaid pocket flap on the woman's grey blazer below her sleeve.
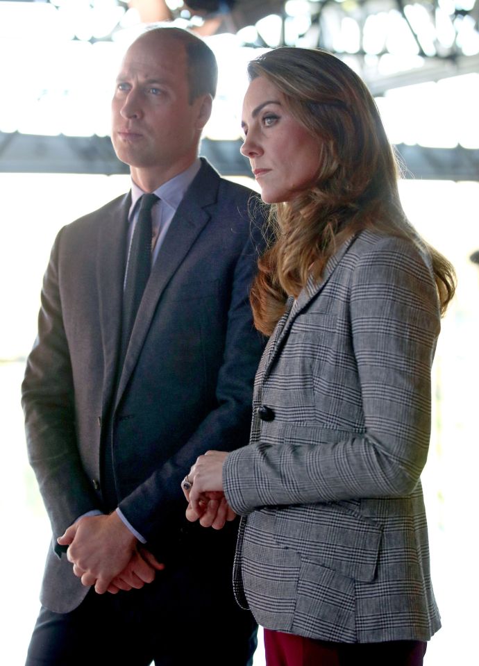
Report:
M379 524L337 502L292 506L275 521L281 546L355 581L376 576L382 533Z

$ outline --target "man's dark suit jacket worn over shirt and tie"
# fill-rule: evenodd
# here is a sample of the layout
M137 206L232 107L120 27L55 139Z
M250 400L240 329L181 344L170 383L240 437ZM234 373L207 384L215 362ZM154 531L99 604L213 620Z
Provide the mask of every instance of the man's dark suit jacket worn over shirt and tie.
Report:
M221 559L222 544L230 557L235 537L186 522L180 481L208 449L248 443L262 351L248 300L260 238L252 192L202 160L153 265L115 397L130 205L130 194L119 197L58 233L23 384L29 460L53 536L41 600L59 613L87 592L56 538L106 508L107 424L119 507L160 561L185 548Z

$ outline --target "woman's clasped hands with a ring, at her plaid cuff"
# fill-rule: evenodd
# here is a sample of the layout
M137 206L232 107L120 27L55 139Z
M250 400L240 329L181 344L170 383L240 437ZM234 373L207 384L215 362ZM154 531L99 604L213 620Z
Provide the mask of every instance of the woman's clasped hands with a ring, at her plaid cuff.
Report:
M236 517L223 492L223 465L226 451L206 451L197 458L181 483L188 502L186 517L199 520L203 527L216 530Z

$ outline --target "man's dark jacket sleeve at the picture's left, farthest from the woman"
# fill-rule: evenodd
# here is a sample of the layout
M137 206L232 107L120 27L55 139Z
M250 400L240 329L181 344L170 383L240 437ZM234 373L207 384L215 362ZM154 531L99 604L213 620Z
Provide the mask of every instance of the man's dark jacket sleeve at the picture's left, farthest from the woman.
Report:
M44 275L38 335L22 384L28 460L54 535L62 534L79 515L98 507L76 442L72 366L58 287L62 232Z

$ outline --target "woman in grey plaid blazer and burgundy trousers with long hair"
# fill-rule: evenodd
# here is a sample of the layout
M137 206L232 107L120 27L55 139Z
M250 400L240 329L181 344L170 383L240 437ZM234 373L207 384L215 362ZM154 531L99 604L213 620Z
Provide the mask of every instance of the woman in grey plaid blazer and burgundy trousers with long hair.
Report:
M249 76L242 153L274 204L251 303L271 338L251 442L196 461L187 516L243 517L236 595L269 665L418 665L440 626L419 476L453 268L405 219L351 69L281 48Z

